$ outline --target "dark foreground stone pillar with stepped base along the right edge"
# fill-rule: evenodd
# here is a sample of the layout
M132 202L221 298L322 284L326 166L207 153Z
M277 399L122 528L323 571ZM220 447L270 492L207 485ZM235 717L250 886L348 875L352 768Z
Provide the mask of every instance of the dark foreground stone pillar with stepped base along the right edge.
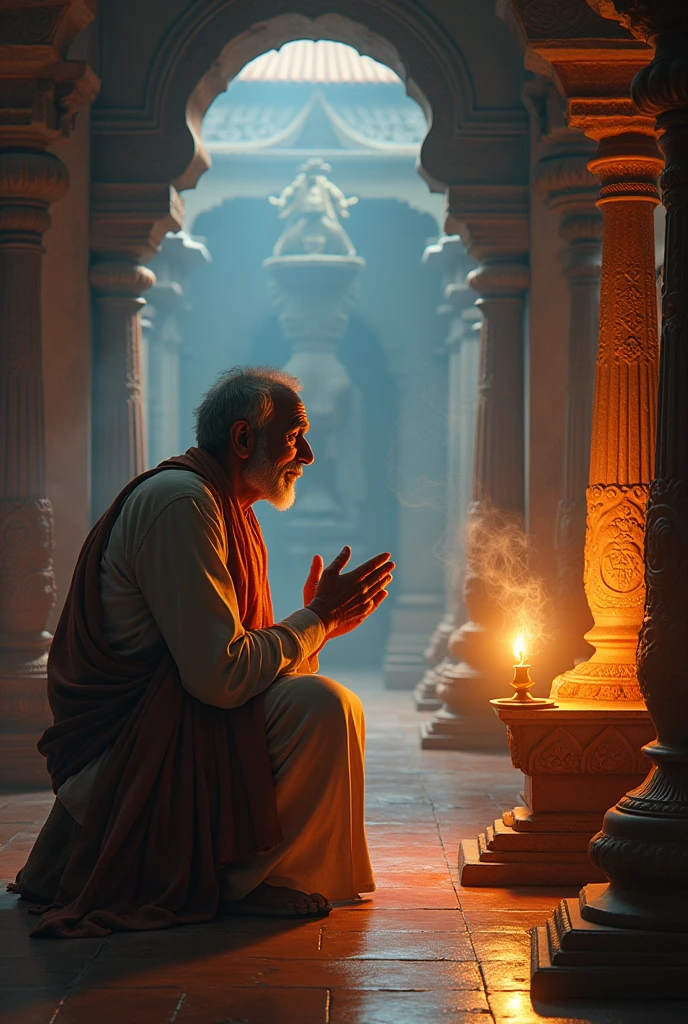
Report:
M656 726L650 773L591 843L608 885L564 900L533 935L532 994L685 998L688 994L688 9L671 0L600 4L654 43L633 82L656 116L666 208L656 477L647 506L645 615L638 678ZM630 206L632 204L629 204ZM644 224L629 222L636 232ZM638 307L653 321L652 310ZM632 311L633 311L632 306ZM575 949L575 953L571 950ZM601 957L611 957L602 961ZM600 971L600 963L609 966Z

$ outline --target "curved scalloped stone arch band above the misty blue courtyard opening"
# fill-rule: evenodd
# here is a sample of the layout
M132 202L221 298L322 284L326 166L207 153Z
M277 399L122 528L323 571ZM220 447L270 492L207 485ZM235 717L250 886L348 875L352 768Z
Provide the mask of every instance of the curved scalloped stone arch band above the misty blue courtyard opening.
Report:
M399 75L428 118L421 173L444 187L460 126L475 120L463 53L410 0L329 0L328 8L321 0L211 0L174 24L150 68L138 127L162 132L158 144L169 153L158 156L178 188L192 187L210 166L200 132L215 96L254 57L304 38L348 43Z

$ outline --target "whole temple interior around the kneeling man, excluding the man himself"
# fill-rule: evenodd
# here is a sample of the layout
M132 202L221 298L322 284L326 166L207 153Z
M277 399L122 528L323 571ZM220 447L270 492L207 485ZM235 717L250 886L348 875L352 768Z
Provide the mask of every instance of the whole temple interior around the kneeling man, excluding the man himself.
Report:
M1 888L81 546L218 374L303 385L275 621L396 563L320 659L377 890L75 942L3 891L0 1021L688 1019L687 247L682 0L0 0Z

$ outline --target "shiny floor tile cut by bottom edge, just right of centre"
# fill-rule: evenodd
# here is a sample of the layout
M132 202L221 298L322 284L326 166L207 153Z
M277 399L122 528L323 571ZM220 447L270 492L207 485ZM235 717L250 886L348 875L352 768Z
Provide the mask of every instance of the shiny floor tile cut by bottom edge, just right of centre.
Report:
M490 1024L482 992L332 993L331 1024Z

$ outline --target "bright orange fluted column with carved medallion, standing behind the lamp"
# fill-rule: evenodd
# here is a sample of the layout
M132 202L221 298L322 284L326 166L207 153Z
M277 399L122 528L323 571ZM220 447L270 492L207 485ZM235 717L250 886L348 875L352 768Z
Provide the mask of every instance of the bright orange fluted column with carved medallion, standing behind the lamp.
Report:
M661 158L653 136L605 137L590 161L602 183L600 331L588 486L585 586L595 652L555 679L552 696L640 700L645 506L653 474L657 324L653 210Z

